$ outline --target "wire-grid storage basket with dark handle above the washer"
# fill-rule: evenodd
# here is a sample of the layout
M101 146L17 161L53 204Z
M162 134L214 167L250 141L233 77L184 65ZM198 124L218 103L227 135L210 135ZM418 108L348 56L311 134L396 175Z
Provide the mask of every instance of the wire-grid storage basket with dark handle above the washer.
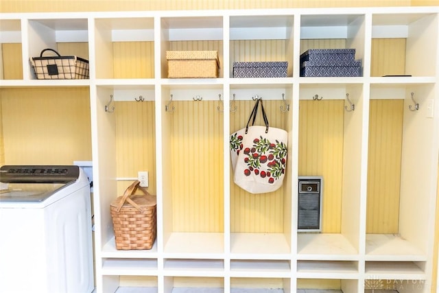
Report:
M45 56L53 51L57 56ZM88 60L77 56L60 56L53 49L44 49L40 57L30 58L32 68L38 80L84 80L88 79Z

